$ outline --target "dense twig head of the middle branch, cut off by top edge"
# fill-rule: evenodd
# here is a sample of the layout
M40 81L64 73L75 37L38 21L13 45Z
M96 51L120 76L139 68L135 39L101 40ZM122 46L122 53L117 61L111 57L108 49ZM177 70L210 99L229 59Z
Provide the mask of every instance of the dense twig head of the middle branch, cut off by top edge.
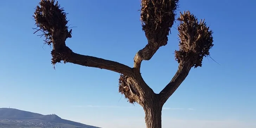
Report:
M140 20L149 44L158 47L167 44L177 4L178 0L141 0Z

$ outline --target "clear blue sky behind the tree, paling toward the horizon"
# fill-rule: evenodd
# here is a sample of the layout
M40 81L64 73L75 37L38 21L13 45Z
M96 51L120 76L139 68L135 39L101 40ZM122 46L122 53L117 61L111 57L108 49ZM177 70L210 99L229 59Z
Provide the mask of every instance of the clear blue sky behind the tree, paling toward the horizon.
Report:
M0 107L58 116L104 128L145 127L144 112L118 93L119 74L75 64L51 65L51 48L33 34L39 0L1 1ZM140 0L59 0L68 12L77 53L133 66L146 37L139 21ZM203 66L192 69L162 111L164 128L255 128L256 53L254 0L180 0L180 11L205 18L215 46ZM168 45L142 63L155 92L177 70L177 23ZM38 33L39 34L39 33ZM121 98L121 100L120 100ZM122 124L125 124L123 126Z

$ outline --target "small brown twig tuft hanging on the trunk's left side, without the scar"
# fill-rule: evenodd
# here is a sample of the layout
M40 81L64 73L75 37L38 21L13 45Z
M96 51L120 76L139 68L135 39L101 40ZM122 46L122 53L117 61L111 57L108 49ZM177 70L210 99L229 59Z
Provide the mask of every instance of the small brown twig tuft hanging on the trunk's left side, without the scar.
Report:
M130 87L127 83L127 76L124 75L120 75L119 78L119 92L121 92L121 94L124 94L124 97L128 99L128 101L130 103L134 103L135 99L133 98L131 92L130 92Z

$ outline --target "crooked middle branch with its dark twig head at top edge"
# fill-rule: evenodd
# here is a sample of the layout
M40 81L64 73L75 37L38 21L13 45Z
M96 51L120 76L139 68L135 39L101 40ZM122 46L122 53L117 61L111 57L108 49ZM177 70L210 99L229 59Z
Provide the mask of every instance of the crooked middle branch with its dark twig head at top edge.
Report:
M140 71L142 60L150 60L159 47L167 44L177 4L178 0L141 0L140 19L148 44L134 57L134 68L137 71Z

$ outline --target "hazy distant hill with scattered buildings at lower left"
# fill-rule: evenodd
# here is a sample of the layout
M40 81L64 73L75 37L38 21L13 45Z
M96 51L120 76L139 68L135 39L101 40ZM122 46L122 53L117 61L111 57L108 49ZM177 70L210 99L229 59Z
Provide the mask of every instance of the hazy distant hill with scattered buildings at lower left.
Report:
M42 115L13 108L0 108L0 128L99 128L86 124L61 119L55 114Z

